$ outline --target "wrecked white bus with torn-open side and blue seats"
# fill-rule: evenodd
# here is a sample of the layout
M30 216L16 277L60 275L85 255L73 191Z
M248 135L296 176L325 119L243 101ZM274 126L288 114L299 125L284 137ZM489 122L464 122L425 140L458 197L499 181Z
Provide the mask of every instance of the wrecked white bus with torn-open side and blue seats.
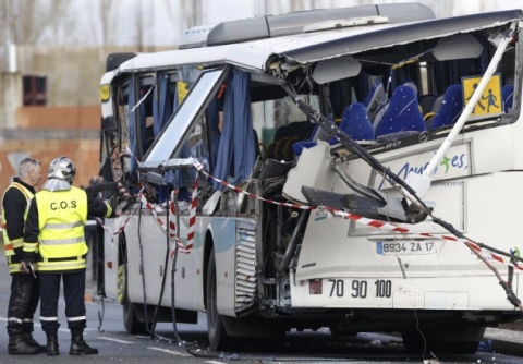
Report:
M522 317L522 20L362 5L109 57L100 294L131 333L206 312L219 350L328 327L475 351Z

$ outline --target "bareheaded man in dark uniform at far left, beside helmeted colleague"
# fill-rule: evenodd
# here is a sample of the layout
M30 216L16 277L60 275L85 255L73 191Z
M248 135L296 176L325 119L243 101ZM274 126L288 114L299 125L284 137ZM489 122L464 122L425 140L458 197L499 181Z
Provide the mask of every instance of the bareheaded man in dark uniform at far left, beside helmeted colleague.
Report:
M24 158L19 165L19 177L13 179L2 197L3 244L11 275L8 306L8 352L11 355L37 354L46 349L36 342L32 333L33 316L40 300L38 279L20 271L25 213L40 180L40 162L34 158Z

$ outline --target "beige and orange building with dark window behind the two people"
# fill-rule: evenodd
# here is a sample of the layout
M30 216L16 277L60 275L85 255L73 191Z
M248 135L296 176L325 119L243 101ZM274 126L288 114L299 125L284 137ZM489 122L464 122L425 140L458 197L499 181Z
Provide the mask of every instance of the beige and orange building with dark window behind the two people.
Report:
M98 173L105 71L98 58L93 48L10 47L10 62L0 69L0 193L26 156L39 159L44 171L66 156L77 168L76 185Z

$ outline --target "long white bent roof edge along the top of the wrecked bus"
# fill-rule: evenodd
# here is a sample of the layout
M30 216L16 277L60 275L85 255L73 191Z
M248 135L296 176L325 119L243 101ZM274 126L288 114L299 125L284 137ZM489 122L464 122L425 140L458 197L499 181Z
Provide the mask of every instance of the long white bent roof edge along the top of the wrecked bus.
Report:
M111 74L167 69L183 64L224 63L257 72L267 72L270 60L275 58L283 58L290 63L305 64L393 45L434 39L457 33L470 33L522 20L522 10L507 10L406 24L373 24L299 33L232 45L137 54L122 63L114 71L115 73ZM111 74L105 76L102 83L104 81L110 82Z

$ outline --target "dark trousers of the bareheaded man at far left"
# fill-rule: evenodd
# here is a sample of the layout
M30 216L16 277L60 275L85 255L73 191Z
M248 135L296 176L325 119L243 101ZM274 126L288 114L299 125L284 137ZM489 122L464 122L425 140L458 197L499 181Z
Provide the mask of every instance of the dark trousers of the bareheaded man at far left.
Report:
M33 316L40 299L38 279L33 275L11 275L8 333L33 332Z

